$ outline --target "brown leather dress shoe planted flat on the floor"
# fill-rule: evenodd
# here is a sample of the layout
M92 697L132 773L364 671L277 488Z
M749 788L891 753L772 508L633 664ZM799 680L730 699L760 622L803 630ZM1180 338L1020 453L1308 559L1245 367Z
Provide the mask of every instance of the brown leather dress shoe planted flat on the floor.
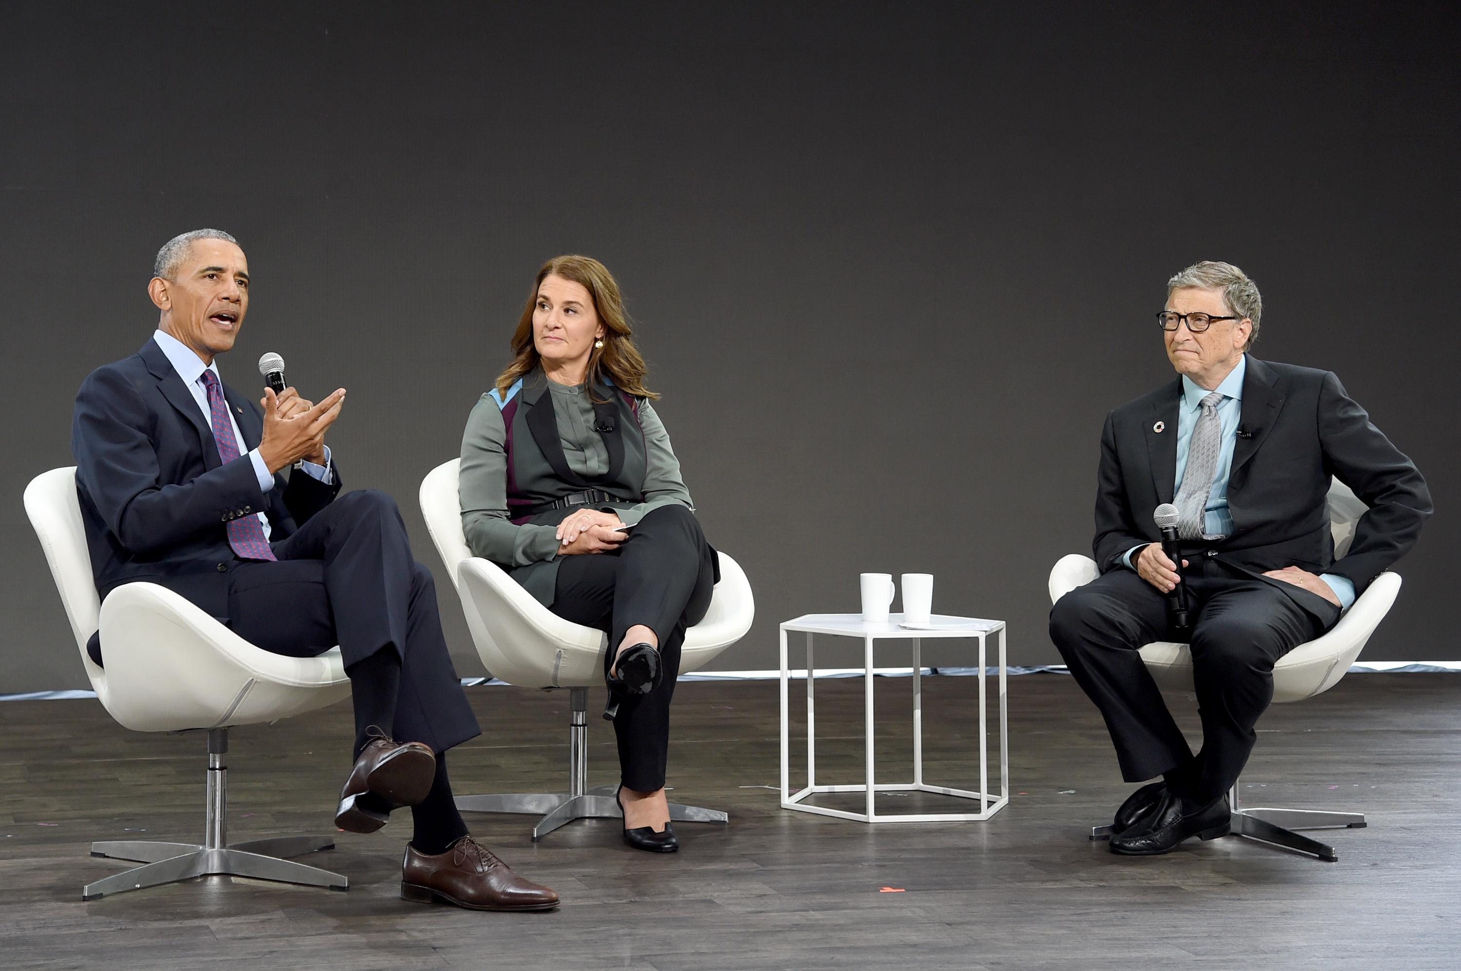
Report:
M443 901L468 910L552 910L558 893L524 880L472 836L462 836L434 857L406 847L400 869L400 899Z

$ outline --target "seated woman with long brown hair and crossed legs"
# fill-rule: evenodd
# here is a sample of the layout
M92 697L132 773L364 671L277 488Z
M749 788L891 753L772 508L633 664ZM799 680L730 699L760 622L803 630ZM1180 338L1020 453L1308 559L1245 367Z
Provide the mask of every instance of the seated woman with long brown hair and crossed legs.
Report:
M624 841L674 853L669 702L685 629L719 581L665 426L644 388L619 285L603 263L543 263L513 361L462 436L462 528L565 620L609 635Z

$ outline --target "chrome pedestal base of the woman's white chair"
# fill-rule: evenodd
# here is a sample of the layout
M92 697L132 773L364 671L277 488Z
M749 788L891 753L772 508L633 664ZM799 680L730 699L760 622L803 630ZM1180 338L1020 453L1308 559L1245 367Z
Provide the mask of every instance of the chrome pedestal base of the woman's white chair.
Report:
M533 826L533 842L576 819L621 819L617 787L587 788L589 779L589 689L570 689L568 722L568 793L500 793L491 796L457 796L456 806L463 813L526 813L542 816ZM669 804L671 822L726 823L730 816L717 809Z

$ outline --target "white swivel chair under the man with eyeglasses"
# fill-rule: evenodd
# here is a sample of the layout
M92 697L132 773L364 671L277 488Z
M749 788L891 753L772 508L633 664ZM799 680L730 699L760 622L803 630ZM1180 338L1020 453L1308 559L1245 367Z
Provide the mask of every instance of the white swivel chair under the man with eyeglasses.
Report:
M1334 554L1344 556L1354 537L1354 524L1365 515L1366 506L1349 486L1334 480L1330 486L1330 525L1334 529ZM1061 557L1050 570L1050 602L1084 586L1100 572L1096 562L1086 556ZM1300 643L1274 664L1274 700L1297 702L1313 698L1334 687L1354 664L1375 627L1389 613L1400 592L1400 573L1381 573L1354 601L1328 633ZM1185 643L1159 641L1141 648L1141 660L1151 671L1157 686L1169 692L1192 692L1192 655ZM1235 782L1232 800L1233 835L1246 836L1286 850L1306 853L1319 860L1335 861L1334 848L1316 839L1302 836L1294 829L1359 829L1365 826L1365 813L1334 813L1305 809L1243 809L1239 804L1240 784ZM1110 836L1110 826L1091 829L1091 839Z

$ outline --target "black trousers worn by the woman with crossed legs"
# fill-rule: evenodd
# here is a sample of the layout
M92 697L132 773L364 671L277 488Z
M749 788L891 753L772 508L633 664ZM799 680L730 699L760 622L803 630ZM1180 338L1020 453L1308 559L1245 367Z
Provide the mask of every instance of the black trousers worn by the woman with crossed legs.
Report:
M558 566L552 611L609 635L605 676L625 630L644 624L659 638L663 680L649 695L625 695L614 719L625 788L653 793L665 785L679 649L685 629L710 608L713 592L714 551L695 513L684 506L650 510L612 553L570 556Z

